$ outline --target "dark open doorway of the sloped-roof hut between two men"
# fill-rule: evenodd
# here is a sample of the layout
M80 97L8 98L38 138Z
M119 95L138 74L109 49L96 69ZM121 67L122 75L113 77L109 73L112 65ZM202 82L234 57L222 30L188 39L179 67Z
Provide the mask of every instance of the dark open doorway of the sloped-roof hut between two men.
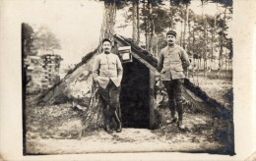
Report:
M133 59L124 63L120 106L124 128L150 128L149 69Z

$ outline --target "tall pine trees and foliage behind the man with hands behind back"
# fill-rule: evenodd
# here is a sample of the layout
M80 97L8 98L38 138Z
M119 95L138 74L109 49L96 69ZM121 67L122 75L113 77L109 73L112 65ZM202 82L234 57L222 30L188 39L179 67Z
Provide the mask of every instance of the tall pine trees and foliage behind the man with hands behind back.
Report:
M195 14L189 8L191 0L119 0L115 1L129 7L125 14L126 25L132 22L135 42L145 42L145 48L154 56L166 45L164 32L175 29L178 32L177 43L195 59L203 59L204 69L207 69L208 59L218 58L220 69L223 59L231 59L232 39L228 37L228 23L232 19L232 0L201 0L202 14ZM117 3L117 4L118 4ZM134 4L139 8L135 10ZM206 15L204 6L216 4L215 15ZM134 12L139 16L135 19ZM139 20L139 23L138 23ZM137 22L135 22L137 21ZM139 28L135 27L138 26ZM138 31L139 29L139 31ZM142 34L143 36L136 36ZM143 44L144 45L144 44ZM201 61L201 60L200 60Z

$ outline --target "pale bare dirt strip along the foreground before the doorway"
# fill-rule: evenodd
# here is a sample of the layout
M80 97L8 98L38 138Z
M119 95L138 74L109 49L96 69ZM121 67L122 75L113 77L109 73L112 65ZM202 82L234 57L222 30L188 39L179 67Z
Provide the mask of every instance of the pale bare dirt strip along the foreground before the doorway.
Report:
M30 138L30 154L78 154L91 152L206 151L222 149L219 142L206 142L195 134L160 136L146 129L123 129L120 134L97 131L79 139Z

